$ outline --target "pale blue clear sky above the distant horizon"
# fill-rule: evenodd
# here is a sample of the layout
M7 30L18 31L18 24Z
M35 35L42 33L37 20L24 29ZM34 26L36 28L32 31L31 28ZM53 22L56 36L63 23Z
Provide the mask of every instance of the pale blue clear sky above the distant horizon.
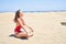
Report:
M66 10L66 0L0 0L0 11Z

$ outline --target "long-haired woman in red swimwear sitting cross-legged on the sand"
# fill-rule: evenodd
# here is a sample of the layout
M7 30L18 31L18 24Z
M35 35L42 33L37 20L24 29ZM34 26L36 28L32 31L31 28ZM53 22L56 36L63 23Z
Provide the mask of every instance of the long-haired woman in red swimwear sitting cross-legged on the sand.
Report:
M23 13L20 10L18 10L15 12L15 16L14 16L14 23L16 24L16 28L14 30L14 36L15 37L23 37L23 36L24 37L30 37L32 35L29 35L28 32L26 32L26 30L24 29L24 26L29 28L32 32L33 32L33 30L32 30L32 28L28 26L24 23L24 21L23 21L22 18L23 18Z

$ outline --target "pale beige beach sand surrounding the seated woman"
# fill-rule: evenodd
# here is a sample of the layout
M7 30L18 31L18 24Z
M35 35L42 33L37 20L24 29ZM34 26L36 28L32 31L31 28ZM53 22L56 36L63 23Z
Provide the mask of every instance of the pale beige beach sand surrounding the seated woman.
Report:
M66 44L66 12L34 12L23 13L24 21L34 30L29 40L9 36L13 34L15 24L14 13L0 13L0 44Z

